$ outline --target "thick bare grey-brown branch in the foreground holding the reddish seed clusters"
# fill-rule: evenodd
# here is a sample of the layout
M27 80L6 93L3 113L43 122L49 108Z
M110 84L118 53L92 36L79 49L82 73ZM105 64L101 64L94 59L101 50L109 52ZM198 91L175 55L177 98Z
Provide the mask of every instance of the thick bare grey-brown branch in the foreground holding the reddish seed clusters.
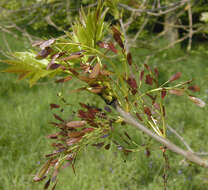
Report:
M159 143L163 144L167 149L183 156L187 160L189 160L193 163L196 163L202 167L208 168L208 162L206 160L201 159L199 156L193 154L190 151L185 151L185 150L181 149L180 147L173 144L168 139L165 139L165 138L153 133L147 127L145 127L142 124L140 124L139 122L137 122L137 120L134 117L132 117L132 115L130 113L125 112L118 104L115 104L114 107L118 111L118 113L123 117L123 119L126 123L133 125L137 129L141 130L142 132L144 132L148 136L150 136L153 139L155 139L156 141L158 141Z

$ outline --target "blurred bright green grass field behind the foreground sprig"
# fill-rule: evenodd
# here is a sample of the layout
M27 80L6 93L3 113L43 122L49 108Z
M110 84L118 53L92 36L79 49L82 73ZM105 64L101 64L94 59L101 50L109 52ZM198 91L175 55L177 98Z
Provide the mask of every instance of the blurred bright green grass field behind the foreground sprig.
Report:
M12 51L29 47L24 39L16 40L9 35L6 38ZM8 50L1 35L0 44L1 50ZM150 51L137 48L132 53L140 65ZM5 57L1 55L1 58ZM197 96L208 103L207 60L206 51L187 53L176 49L157 54L150 58L149 64L159 67L161 81L178 71L183 73L184 81L194 78L194 83L201 87ZM0 69L3 68L5 65L0 63ZM34 183L32 178L44 163L44 154L50 153L50 142L45 136L55 129L48 124L54 120L49 104L58 101L57 92L63 92L71 103L66 115L77 109L78 102L93 100L99 104L99 98L90 94L70 93L75 86L73 82L57 85L46 80L29 88L27 82L17 81L16 76L0 73L0 190L43 189L44 183ZM182 134L194 150L208 152L208 106L202 109L178 96L167 98L166 104L170 126ZM140 132L137 135L142 138ZM169 133L169 138L183 147L173 134ZM189 165L171 152L169 161L169 190L208 189L207 169ZM57 190L161 190L163 166L162 153L154 146L149 158L145 152L124 158L114 149L89 147L77 160L76 175L71 168L61 173Z

